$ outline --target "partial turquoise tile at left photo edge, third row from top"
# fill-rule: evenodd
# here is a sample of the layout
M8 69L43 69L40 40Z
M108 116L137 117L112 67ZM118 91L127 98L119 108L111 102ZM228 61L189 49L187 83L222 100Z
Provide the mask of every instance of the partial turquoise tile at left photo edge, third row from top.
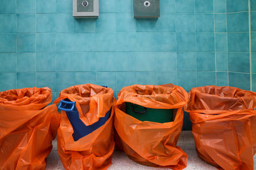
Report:
M0 34L0 52L16 52L16 34Z

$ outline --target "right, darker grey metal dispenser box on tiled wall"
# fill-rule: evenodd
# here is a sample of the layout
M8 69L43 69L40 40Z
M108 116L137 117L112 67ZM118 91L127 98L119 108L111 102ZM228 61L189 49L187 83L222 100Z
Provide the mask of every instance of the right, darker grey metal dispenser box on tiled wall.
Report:
M160 17L160 0L133 0L134 18Z

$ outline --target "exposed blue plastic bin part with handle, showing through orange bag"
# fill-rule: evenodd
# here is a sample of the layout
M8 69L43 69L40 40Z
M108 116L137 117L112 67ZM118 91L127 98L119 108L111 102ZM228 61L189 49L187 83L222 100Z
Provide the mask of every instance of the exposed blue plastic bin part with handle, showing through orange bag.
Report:
M102 125L104 125L111 115L112 108L106 113L105 117L99 118L99 121L92 125L84 125L79 118L79 113L76 109L76 102L61 100L58 109L66 111L68 120L73 127L74 133L72 134L74 141L92 133Z

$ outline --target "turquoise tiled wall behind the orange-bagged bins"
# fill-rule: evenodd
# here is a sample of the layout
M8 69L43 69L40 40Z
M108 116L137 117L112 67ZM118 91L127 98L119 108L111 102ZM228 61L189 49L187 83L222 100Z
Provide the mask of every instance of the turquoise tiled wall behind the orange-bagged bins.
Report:
M81 83L108 85L115 96L135 83L250 90L248 12L248 0L161 0L161 17L135 19L132 0L100 0L99 18L75 19L72 0L3 0L0 90L49 86L55 97Z

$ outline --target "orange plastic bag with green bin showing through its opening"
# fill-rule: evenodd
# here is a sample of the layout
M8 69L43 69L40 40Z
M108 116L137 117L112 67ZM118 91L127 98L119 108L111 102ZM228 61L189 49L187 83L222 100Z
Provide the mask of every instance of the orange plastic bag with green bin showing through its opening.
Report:
M165 86L165 87L164 87ZM173 109L174 122L141 122L124 113L126 102L147 108ZM172 84L132 85L118 94L115 106L116 145L134 161L146 166L184 169L188 155L177 146L183 124L182 107L188 94Z

